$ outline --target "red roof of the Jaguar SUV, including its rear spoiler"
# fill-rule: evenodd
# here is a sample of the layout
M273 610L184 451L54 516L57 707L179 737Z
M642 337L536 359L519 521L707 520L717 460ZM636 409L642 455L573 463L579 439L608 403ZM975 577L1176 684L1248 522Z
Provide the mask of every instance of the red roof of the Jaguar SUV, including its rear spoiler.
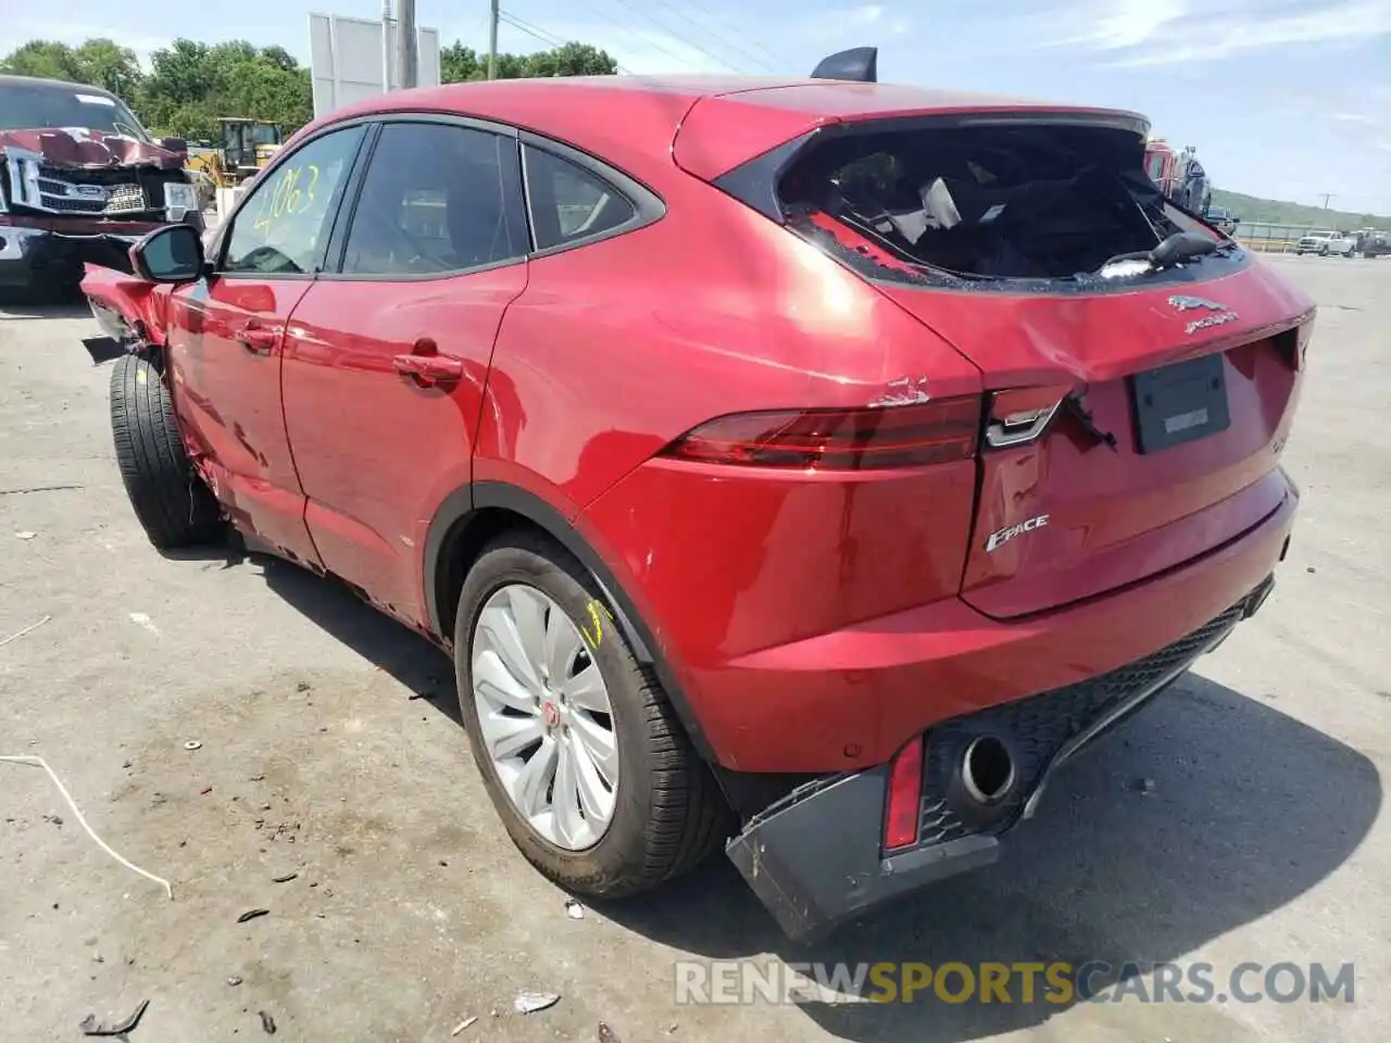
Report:
M409 111L520 127L602 156L636 177L644 168L669 171L677 136L680 164L701 177L718 177L826 124L906 115L1061 111L1120 121L1141 135L1149 131L1142 115L1124 110L897 83L719 75L555 76L416 88L352 103L306 129Z

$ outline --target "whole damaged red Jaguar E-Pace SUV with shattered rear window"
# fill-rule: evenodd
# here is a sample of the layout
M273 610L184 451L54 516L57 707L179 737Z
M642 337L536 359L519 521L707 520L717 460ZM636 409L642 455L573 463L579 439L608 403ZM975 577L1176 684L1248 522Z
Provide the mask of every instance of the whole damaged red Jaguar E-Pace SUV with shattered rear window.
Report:
M1142 117L874 81L374 97L83 284L150 540L448 649L576 893L723 848L807 937L985 865L1285 556L1310 300Z

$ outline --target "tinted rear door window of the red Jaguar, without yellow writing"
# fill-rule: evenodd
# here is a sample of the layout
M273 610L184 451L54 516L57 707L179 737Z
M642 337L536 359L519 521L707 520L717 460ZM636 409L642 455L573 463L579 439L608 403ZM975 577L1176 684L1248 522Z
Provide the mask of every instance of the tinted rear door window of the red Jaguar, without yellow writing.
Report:
M516 139L449 124L381 129L345 274L441 275L526 254Z

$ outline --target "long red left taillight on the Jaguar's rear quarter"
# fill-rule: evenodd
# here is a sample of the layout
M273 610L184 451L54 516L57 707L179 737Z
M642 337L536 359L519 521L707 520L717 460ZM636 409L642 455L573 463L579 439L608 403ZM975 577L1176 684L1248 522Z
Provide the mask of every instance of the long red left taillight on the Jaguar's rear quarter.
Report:
M970 459L979 430L974 395L882 409L733 413L682 435L662 455L807 470L917 467Z

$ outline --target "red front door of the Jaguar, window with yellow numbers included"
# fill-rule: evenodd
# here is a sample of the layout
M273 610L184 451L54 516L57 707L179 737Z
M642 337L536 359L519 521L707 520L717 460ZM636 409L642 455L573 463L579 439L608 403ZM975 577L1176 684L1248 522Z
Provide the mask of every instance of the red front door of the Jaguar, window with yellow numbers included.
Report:
M364 128L309 140L252 191L214 250L214 274L175 295L174 401L209 455L213 491L242 528L317 563L281 409L285 324L313 285Z

